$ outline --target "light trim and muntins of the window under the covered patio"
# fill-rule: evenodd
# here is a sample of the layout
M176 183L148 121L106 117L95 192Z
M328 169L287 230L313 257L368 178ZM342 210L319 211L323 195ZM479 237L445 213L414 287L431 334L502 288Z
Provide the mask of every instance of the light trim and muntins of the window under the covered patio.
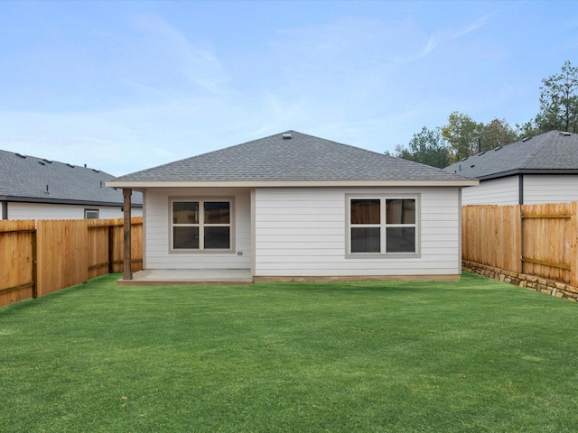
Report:
M201 236L204 233L204 223L201 223L201 221L203 220L204 217L204 206L202 206L202 204L206 201L218 201L218 202L228 202L228 211L229 211L229 219L228 219L228 225L226 224L219 224L217 226L228 226L229 229L229 243L228 243L228 248L222 248L222 249L217 249L217 248L210 248L210 249L204 249L204 245L203 248L200 248L201 243L199 244L199 248L173 248L173 230L172 227L174 226L192 226L192 225L182 225L182 224L178 224L178 225L174 225L172 223L172 203L174 202L192 202L192 201L197 201L199 202L199 221L200 224L199 225L194 225L194 226L199 226L199 237L201 238ZM211 225L212 226L212 225ZM234 197L170 197L169 198L169 253L177 253L177 254L182 254L182 253L186 253L186 254L215 254L215 253L235 253L235 198Z

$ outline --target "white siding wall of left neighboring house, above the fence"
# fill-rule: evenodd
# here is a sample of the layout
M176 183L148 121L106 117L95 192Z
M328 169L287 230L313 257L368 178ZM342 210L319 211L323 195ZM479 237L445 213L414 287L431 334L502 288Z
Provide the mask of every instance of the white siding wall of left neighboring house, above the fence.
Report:
M84 219L84 209L98 209L99 218L122 218L121 207L51 205L45 203L8 203L8 219ZM133 217L142 217L141 207L132 209ZM4 215L2 216L5 217Z

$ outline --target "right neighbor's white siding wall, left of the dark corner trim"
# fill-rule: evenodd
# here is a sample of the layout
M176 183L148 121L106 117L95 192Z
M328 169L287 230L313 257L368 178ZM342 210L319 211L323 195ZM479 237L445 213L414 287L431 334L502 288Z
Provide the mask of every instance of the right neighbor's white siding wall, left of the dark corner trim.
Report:
M482 180L477 187L465 187L461 189L461 204L463 206L517 205L519 201L518 182L517 176Z

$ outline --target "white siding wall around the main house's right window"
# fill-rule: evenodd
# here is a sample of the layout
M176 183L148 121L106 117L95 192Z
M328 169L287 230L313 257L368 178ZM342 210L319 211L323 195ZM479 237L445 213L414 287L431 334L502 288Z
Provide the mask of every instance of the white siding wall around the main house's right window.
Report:
M346 196L419 194L419 257L346 258ZM459 188L256 189L256 276L455 275Z

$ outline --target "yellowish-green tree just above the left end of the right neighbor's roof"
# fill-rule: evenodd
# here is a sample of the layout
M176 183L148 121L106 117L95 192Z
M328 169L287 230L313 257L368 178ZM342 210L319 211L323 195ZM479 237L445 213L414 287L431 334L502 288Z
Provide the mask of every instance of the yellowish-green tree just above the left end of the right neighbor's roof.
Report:
M442 128L442 136L450 143L452 162L477 153L478 138L480 138L484 124L474 122L469 115L457 111L448 116L448 124Z

